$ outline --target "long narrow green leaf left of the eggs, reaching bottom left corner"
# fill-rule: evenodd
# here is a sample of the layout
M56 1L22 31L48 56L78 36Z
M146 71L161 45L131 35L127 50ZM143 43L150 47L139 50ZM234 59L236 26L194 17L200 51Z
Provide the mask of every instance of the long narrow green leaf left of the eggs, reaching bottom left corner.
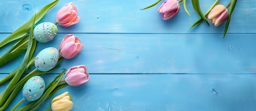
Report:
M7 99L8 95L11 93L11 89L16 85L18 80L20 80L21 75L24 73L24 71L26 69L26 66L28 64L30 49L32 48L32 44L33 44L33 29L34 29L36 14L34 14L33 17L34 17L33 22L32 22L33 24L30 27L30 36L29 36L29 42L28 42L28 49L27 49L26 54L23 58L23 61L21 62L21 65L20 65L19 69L17 70L16 74L14 75L14 78L10 81L6 90L3 91L0 95L0 97L1 97L0 106ZM0 108L0 111L3 111L6 107L7 107L7 105L4 105L3 107Z

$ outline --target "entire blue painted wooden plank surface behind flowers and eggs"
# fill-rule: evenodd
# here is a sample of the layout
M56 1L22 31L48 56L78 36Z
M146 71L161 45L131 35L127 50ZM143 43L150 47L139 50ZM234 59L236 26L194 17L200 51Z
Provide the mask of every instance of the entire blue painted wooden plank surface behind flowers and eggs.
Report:
M25 23L52 0L1 0L0 40ZM180 12L164 21L157 6L140 9L155 0L60 0L40 20L55 22L55 13L73 1L81 21L64 28L49 43L38 43L35 54L58 48L68 33L81 38L84 49L61 68L43 75L48 84L63 69L84 64L90 80L67 86L74 111L254 111L256 109L256 0L238 0L228 34L224 24L205 23L188 30L199 17L191 1L188 17ZM206 12L214 0L200 0ZM228 0L220 0L228 4ZM11 45L0 49L4 53ZM23 55L24 56L24 55ZM0 79L22 60L0 67ZM28 73L28 72L27 72ZM2 92L7 84L0 86ZM53 97L54 97L53 96ZM50 107L47 99L39 111ZM7 111L22 98L15 98ZM24 104L22 104L24 105Z

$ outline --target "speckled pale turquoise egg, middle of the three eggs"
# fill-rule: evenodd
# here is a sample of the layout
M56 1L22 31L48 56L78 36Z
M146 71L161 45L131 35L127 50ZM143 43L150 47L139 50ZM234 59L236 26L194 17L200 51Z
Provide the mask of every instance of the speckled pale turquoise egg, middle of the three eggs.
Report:
M56 48L43 49L35 57L35 68L39 71L48 71L55 67L58 60L59 52Z

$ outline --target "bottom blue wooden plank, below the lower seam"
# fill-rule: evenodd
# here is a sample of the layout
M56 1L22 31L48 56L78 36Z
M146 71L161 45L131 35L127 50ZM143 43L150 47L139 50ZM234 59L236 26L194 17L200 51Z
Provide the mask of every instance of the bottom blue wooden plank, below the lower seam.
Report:
M42 77L48 84L56 75ZM255 74L90 74L88 83L53 97L68 91L74 111L254 111L255 88ZM48 109L53 97L38 111ZM20 92L10 106L21 98Z

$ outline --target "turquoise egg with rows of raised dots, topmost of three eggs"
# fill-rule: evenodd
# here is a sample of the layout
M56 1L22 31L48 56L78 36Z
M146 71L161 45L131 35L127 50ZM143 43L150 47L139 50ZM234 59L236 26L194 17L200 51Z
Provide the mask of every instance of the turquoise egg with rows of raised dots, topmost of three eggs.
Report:
M43 22L35 26L33 36L38 42L46 43L53 40L57 34L57 31L58 28L55 24L50 22Z

